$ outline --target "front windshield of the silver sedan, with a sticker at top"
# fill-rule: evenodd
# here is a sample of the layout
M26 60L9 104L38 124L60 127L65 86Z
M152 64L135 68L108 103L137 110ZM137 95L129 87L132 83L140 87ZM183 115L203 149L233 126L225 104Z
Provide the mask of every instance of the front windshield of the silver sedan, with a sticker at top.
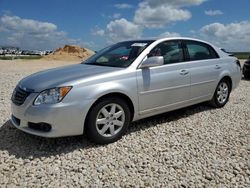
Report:
M104 48L84 61L84 64L128 67L153 40L120 42Z

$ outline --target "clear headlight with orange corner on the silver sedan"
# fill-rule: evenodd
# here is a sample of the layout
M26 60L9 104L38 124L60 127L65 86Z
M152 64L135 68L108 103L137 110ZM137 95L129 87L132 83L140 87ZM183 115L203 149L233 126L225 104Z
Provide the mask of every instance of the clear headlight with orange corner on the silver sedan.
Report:
M37 96L34 105L58 103L63 100L71 88L71 86L66 86L44 90Z

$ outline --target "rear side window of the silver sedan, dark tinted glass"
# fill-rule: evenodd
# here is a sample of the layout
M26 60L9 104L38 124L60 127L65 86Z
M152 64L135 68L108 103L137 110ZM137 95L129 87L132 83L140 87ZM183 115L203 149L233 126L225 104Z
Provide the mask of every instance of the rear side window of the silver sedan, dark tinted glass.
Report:
M186 47L190 61L218 58L214 49L205 43L188 41Z

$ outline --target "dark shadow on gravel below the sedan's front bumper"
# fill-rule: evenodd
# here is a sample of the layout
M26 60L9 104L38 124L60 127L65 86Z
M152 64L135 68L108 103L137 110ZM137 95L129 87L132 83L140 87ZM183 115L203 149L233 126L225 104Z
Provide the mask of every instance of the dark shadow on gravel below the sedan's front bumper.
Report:
M43 138L22 132L11 121L0 128L0 152L6 151L16 158L34 159L63 155L77 149L98 147L84 136Z

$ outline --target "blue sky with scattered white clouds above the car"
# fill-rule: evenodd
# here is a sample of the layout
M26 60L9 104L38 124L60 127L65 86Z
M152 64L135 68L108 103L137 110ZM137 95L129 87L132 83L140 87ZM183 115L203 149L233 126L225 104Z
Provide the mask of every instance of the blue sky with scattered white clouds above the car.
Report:
M121 40L187 36L250 51L249 0L0 0L0 46L98 50Z

